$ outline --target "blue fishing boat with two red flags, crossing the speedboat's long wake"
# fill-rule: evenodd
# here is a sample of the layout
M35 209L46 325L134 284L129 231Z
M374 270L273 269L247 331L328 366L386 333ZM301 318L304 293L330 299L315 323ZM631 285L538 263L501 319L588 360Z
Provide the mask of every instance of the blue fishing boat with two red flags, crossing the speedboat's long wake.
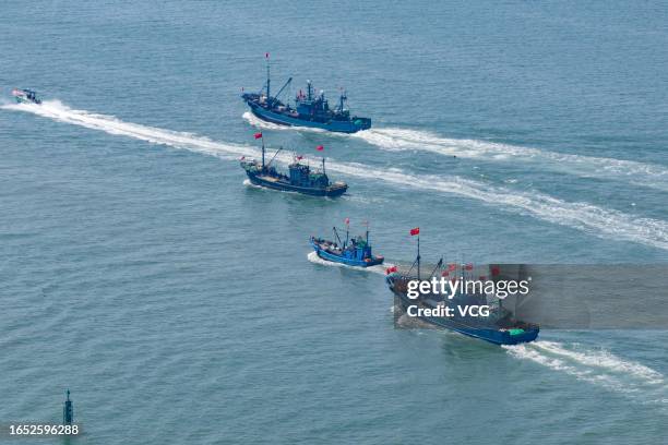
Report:
M313 171L309 165L301 164L302 156L295 156L293 163L288 166L288 173L282 173L272 163L283 147L281 147L269 163L265 163L264 137L262 133L257 133L255 139L262 139L262 161L254 159L247 160L241 158L241 168L246 171L248 179L254 185L264 187L273 190L286 192L303 193L312 196L341 196L348 190L345 182L330 182L330 178L325 172L325 158L322 157L322 169ZM317 147L322 152L324 147Z

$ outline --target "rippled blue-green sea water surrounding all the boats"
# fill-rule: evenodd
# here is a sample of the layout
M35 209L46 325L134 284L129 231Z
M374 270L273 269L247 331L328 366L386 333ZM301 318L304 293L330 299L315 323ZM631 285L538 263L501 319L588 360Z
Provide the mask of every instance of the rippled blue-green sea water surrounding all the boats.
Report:
M433 262L666 262L665 4L44 1L0 17L0 422L58 422L70 388L82 444L665 441L665 332L500 348L396 329L381 274L307 257L349 217L391 262L413 261L417 226ZM239 95L265 52L274 88L345 87L373 128L252 118ZM12 87L45 101L13 105ZM324 145L349 192L244 184L258 131L279 163L315 166Z

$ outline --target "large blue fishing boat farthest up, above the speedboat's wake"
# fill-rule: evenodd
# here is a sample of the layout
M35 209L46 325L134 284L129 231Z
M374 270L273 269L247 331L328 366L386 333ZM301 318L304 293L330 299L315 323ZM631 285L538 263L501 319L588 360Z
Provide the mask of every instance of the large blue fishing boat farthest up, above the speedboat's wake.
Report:
M307 81L306 93L301 89L297 93L295 107L279 99L281 94L291 84L293 77L272 96L269 53L265 57L266 83L260 93L241 94L241 98L255 117L279 125L308 127L338 133L356 133L371 128L371 119L350 116L350 110L346 108L348 97L343 89L334 108L330 108L323 91L315 94L311 81Z

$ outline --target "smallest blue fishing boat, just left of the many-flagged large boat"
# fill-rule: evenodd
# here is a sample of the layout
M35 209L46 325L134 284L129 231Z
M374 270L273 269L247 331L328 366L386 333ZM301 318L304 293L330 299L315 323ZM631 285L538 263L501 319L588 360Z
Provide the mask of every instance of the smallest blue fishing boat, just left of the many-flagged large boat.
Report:
M369 244L369 227L365 237L350 238L350 220L346 218L346 239L342 241L336 227L332 228L335 241L311 237L311 246L315 254L325 261L341 263L348 266L369 267L383 264L382 255L373 255Z

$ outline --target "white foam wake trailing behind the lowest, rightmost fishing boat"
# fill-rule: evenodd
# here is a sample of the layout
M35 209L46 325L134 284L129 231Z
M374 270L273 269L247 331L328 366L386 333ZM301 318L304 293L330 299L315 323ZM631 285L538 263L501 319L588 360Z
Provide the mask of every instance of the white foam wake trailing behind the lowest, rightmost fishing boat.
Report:
M661 373L608 351L586 350L576 345L566 347L560 342L542 340L504 348L518 359L530 360L620 393L653 390L663 394L666 389Z

